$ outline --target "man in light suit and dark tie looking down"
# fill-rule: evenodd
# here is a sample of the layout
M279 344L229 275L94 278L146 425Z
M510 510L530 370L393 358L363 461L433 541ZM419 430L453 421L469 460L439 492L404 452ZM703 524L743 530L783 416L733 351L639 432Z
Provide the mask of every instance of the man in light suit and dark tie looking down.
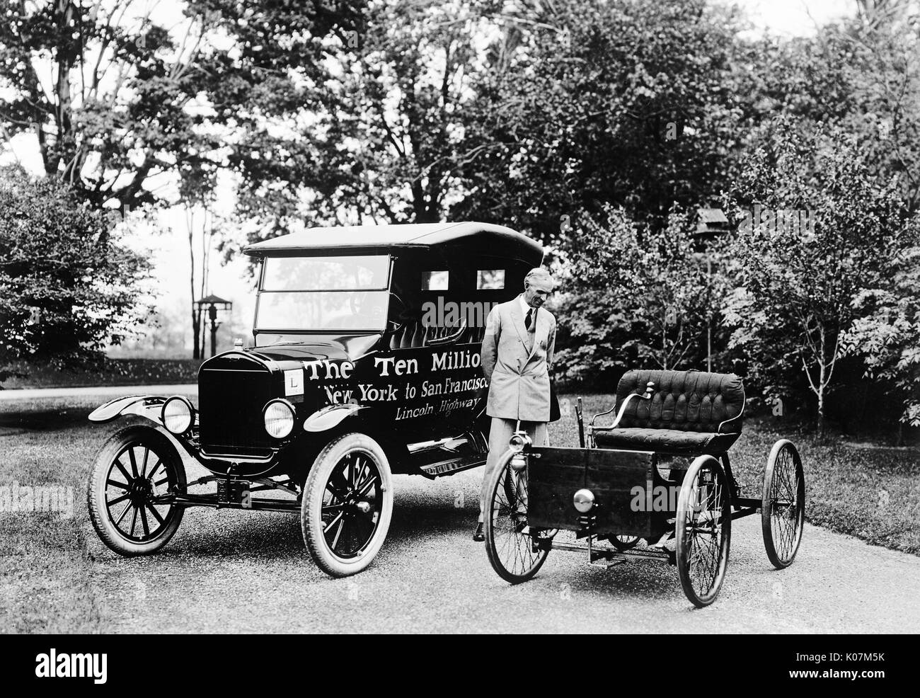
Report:
M489 380L486 413L492 425L474 541L485 540L482 516L491 494L486 489L514 432L526 431L535 446L547 444L549 368L556 344L556 318L542 306L555 285L545 269L530 270L523 280L523 294L492 308L486 320L481 358L482 371Z

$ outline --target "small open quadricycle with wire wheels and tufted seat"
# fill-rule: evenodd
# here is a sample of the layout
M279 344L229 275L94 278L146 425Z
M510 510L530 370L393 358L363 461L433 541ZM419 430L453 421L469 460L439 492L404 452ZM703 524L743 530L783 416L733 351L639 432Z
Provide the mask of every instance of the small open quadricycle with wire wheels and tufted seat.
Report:
M594 424L614 411L611 425ZM743 411L742 381L732 374L628 371L614 407L588 425L587 448L581 401L581 448L538 448L515 434L489 482L492 567L517 584L553 548L586 552L604 566L661 560L677 565L687 599L703 607L722 586L731 521L758 510L767 557L777 569L788 567L805 518L799 451L777 441L762 497L742 497L729 448L741 436ZM576 541L557 540L559 530L574 531ZM647 545L637 548L642 540Z

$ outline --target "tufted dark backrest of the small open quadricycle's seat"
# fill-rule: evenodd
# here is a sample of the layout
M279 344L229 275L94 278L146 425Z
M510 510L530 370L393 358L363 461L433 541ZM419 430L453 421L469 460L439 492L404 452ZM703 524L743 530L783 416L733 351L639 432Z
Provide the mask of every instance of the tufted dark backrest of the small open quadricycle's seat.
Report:
M740 434L744 386L733 373L705 371L627 371L616 386L616 413L627 395L645 394L654 382L651 400L632 401L622 427ZM730 421L730 424L719 425Z

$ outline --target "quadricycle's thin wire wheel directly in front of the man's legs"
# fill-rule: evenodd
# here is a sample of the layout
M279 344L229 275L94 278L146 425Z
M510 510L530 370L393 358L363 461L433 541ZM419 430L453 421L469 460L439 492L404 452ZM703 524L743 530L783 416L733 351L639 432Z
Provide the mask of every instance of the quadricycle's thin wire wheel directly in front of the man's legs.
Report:
M507 451L492 473L483 531L492 568L505 581L520 584L546 561L556 531L527 525L527 470L513 470L512 455Z

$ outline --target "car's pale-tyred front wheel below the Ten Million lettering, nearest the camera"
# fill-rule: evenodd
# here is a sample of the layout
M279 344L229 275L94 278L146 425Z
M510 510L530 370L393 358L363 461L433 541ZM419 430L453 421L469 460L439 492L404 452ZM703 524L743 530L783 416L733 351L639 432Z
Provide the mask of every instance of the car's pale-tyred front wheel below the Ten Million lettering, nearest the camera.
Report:
M330 576L374 562L390 528L393 486L383 448L370 436L339 436L319 453L304 486L306 548Z

